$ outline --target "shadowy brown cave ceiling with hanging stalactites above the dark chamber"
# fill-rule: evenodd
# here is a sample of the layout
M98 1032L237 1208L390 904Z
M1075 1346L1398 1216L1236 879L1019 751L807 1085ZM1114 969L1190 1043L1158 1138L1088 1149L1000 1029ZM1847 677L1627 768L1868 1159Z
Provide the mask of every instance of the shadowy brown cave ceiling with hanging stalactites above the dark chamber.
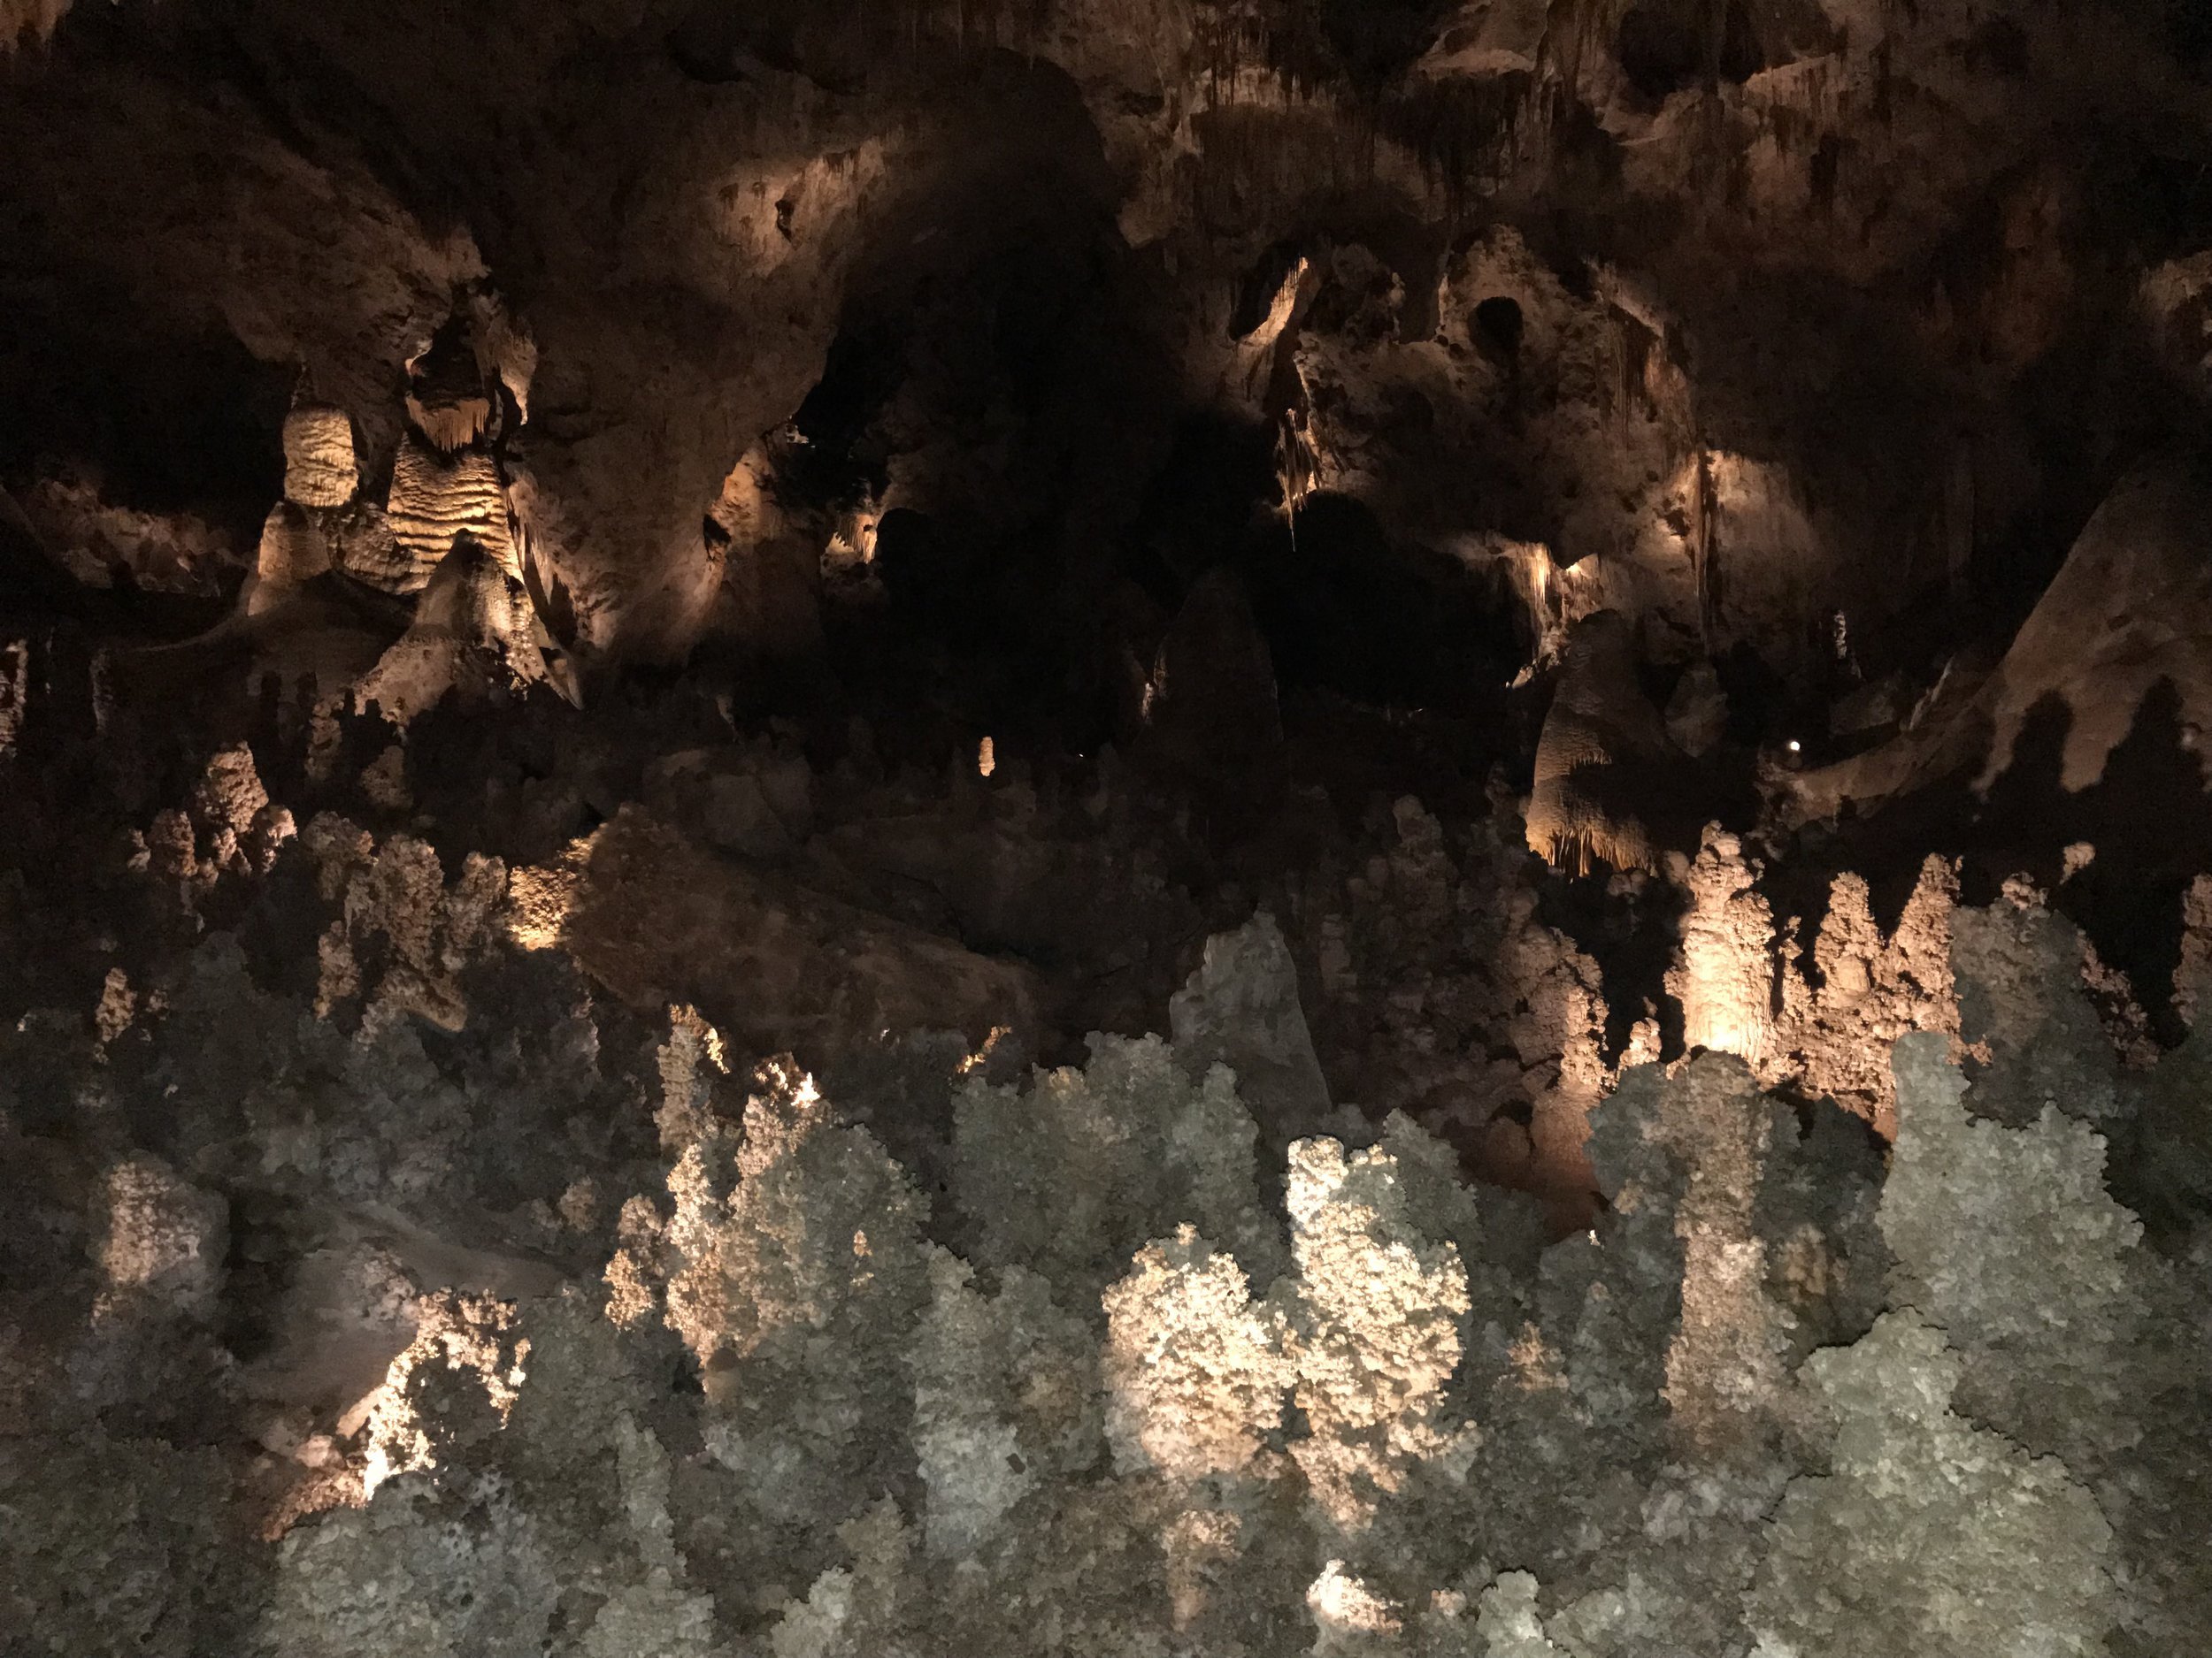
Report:
M987 599L1026 628L1130 573L1172 599L1263 557L1232 508L1325 493L1380 581L1542 546L1655 659L1792 672L1832 610L1911 652L1958 566L2017 621L2199 389L2188 7L18 22L11 486L239 520L296 387L380 480L409 358L498 309L531 365L502 464L613 659L776 643L774 575L723 581L783 528L726 500L748 458L770 511L909 508L1037 564ZM1177 484L1208 422L1298 455ZM1164 475L1228 497L1223 544L1146 513Z

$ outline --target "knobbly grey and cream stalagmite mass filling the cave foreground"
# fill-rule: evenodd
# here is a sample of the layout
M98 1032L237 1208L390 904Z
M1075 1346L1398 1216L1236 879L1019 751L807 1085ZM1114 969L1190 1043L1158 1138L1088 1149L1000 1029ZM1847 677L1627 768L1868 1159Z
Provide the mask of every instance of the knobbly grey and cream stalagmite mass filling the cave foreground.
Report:
M1400 816L1371 886L1418 893ZM27 1651L2150 1658L2212 1618L2203 1037L2126 1070L2026 893L1931 875L1885 937L1843 891L1818 990L1697 1015L1743 1059L1593 1085L1604 1205L1546 1247L1407 1114L1323 1119L1272 922L1172 1041L816 1081L690 1008L637 1048L522 948L613 853L279 822L226 754L146 873L303 882L312 982L212 933L0 1032ZM1686 1004L1752 997L1736 858ZM1829 1039L1887 1154L1761 1088Z

